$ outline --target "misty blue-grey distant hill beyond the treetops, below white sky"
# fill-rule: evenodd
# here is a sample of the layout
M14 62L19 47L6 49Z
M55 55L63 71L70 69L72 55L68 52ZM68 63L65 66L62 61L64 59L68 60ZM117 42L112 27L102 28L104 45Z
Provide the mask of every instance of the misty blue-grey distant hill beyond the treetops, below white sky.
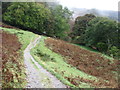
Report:
M71 8L71 10L74 12L74 14L73 14L74 19L78 16L83 16L85 14L91 13L91 14L94 14L96 16L108 17L112 20L118 21L118 11L85 9L85 8Z

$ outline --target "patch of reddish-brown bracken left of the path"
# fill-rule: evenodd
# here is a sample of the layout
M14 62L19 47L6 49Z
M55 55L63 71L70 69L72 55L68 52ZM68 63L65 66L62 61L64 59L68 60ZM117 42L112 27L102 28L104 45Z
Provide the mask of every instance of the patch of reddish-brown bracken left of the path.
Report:
M24 87L25 69L19 49L21 48L18 38L13 34L2 33L2 87ZM13 39L14 38L14 39ZM24 81L24 82L23 82Z

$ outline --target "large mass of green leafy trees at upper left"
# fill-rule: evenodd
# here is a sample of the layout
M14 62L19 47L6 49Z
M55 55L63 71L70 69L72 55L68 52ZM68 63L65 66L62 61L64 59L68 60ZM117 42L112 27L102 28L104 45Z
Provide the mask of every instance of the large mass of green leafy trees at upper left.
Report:
M4 10L3 21L35 33L61 39L66 37L66 31L69 31L68 21L72 13L61 5L54 8L48 8L45 5L30 2L11 3Z

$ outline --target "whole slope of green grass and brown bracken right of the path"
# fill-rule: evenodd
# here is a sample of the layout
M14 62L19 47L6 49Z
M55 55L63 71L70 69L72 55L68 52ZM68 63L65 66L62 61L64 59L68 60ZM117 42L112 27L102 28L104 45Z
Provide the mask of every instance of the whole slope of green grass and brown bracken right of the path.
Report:
M117 60L61 40L44 39L32 50L32 54L39 64L63 83L81 88L118 87Z

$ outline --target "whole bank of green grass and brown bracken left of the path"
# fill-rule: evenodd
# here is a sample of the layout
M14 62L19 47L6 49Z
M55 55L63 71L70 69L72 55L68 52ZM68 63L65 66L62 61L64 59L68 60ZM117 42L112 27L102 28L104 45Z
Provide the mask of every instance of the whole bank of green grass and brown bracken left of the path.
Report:
M2 33L2 88L23 88L27 83L23 50L37 35L23 30L0 29L5 31Z

